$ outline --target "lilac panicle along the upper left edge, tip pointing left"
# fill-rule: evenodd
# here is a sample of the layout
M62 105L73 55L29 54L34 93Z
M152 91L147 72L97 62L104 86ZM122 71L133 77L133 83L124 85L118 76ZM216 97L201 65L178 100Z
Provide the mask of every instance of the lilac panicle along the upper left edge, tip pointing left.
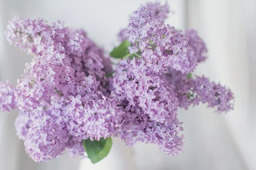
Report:
M8 41L15 42L29 54L36 54L35 58L38 55L49 56L56 52L67 54L68 63L65 63L61 56L55 64L61 64L61 62L71 64L75 67L75 71L84 71L81 68L85 67L85 70L95 71L102 78L104 71L100 71L103 66L99 63L111 65L111 62L102 63L102 58L105 59L102 49L97 47L84 31L65 28L61 21L49 25L41 18L36 20L15 18L9 21L5 35ZM38 39L30 37L38 37ZM93 68L99 70L93 70Z

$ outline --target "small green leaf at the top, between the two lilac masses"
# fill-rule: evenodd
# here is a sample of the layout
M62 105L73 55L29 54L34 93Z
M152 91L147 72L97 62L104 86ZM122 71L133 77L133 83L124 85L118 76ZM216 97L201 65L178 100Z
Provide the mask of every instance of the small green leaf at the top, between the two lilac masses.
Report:
M110 56L113 58L123 58L129 55L127 47L131 47L131 43L128 40L124 40L118 47L111 51Z

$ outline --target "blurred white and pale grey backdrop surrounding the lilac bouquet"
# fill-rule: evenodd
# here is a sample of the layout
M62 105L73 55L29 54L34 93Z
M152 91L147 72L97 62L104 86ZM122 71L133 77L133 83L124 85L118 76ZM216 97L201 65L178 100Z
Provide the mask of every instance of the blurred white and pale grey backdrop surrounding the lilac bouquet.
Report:
M205 105L179 110L185 146L169 157L157 146L138 143L126 147L113 139L109 156L96 165L67 155L35 163L15 136L17 111L0 113L0 170L256 170L256 1L167 0L175 15L166 23L177 29L195 28L209 50L209 59L195 72L233 90L235 109L217 115ZM2 34L13 17L43 17L84 28L89 37L111 51L128 15L147 0L0 0L0 80L14 84L29 62L25 52L11 46ZM165 3L165 0L163 0Z

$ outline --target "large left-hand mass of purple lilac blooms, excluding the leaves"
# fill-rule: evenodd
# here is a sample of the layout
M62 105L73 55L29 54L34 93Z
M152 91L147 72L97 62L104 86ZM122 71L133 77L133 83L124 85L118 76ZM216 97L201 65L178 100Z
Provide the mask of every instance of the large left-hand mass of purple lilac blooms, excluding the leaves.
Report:
M65 28L60 21L50 26L42 19L16 18L5 34L35 55L12 90L21 110L17 135L32 159L48 161L66 148L72 156L83 155L81 140L116 133L122 111L105 88L111 62L84 31Z

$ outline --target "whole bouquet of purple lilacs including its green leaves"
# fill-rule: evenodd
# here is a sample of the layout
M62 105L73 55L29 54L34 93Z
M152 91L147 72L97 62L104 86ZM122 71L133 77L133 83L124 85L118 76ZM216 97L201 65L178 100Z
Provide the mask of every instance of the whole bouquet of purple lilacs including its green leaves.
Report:
M175 156L184 139L178 108L233 109L229 88L192 74L207 59L206 45L196 31L166 25L168 13L160 3L132 13L110 53L118 59L114 70L83 30L41 18L9 21L6 39L34 57L16 88L0 82L0 111L19 109L17 136L32 159L49 161L68 150L96 163L108 155L111 136L157 144Z

